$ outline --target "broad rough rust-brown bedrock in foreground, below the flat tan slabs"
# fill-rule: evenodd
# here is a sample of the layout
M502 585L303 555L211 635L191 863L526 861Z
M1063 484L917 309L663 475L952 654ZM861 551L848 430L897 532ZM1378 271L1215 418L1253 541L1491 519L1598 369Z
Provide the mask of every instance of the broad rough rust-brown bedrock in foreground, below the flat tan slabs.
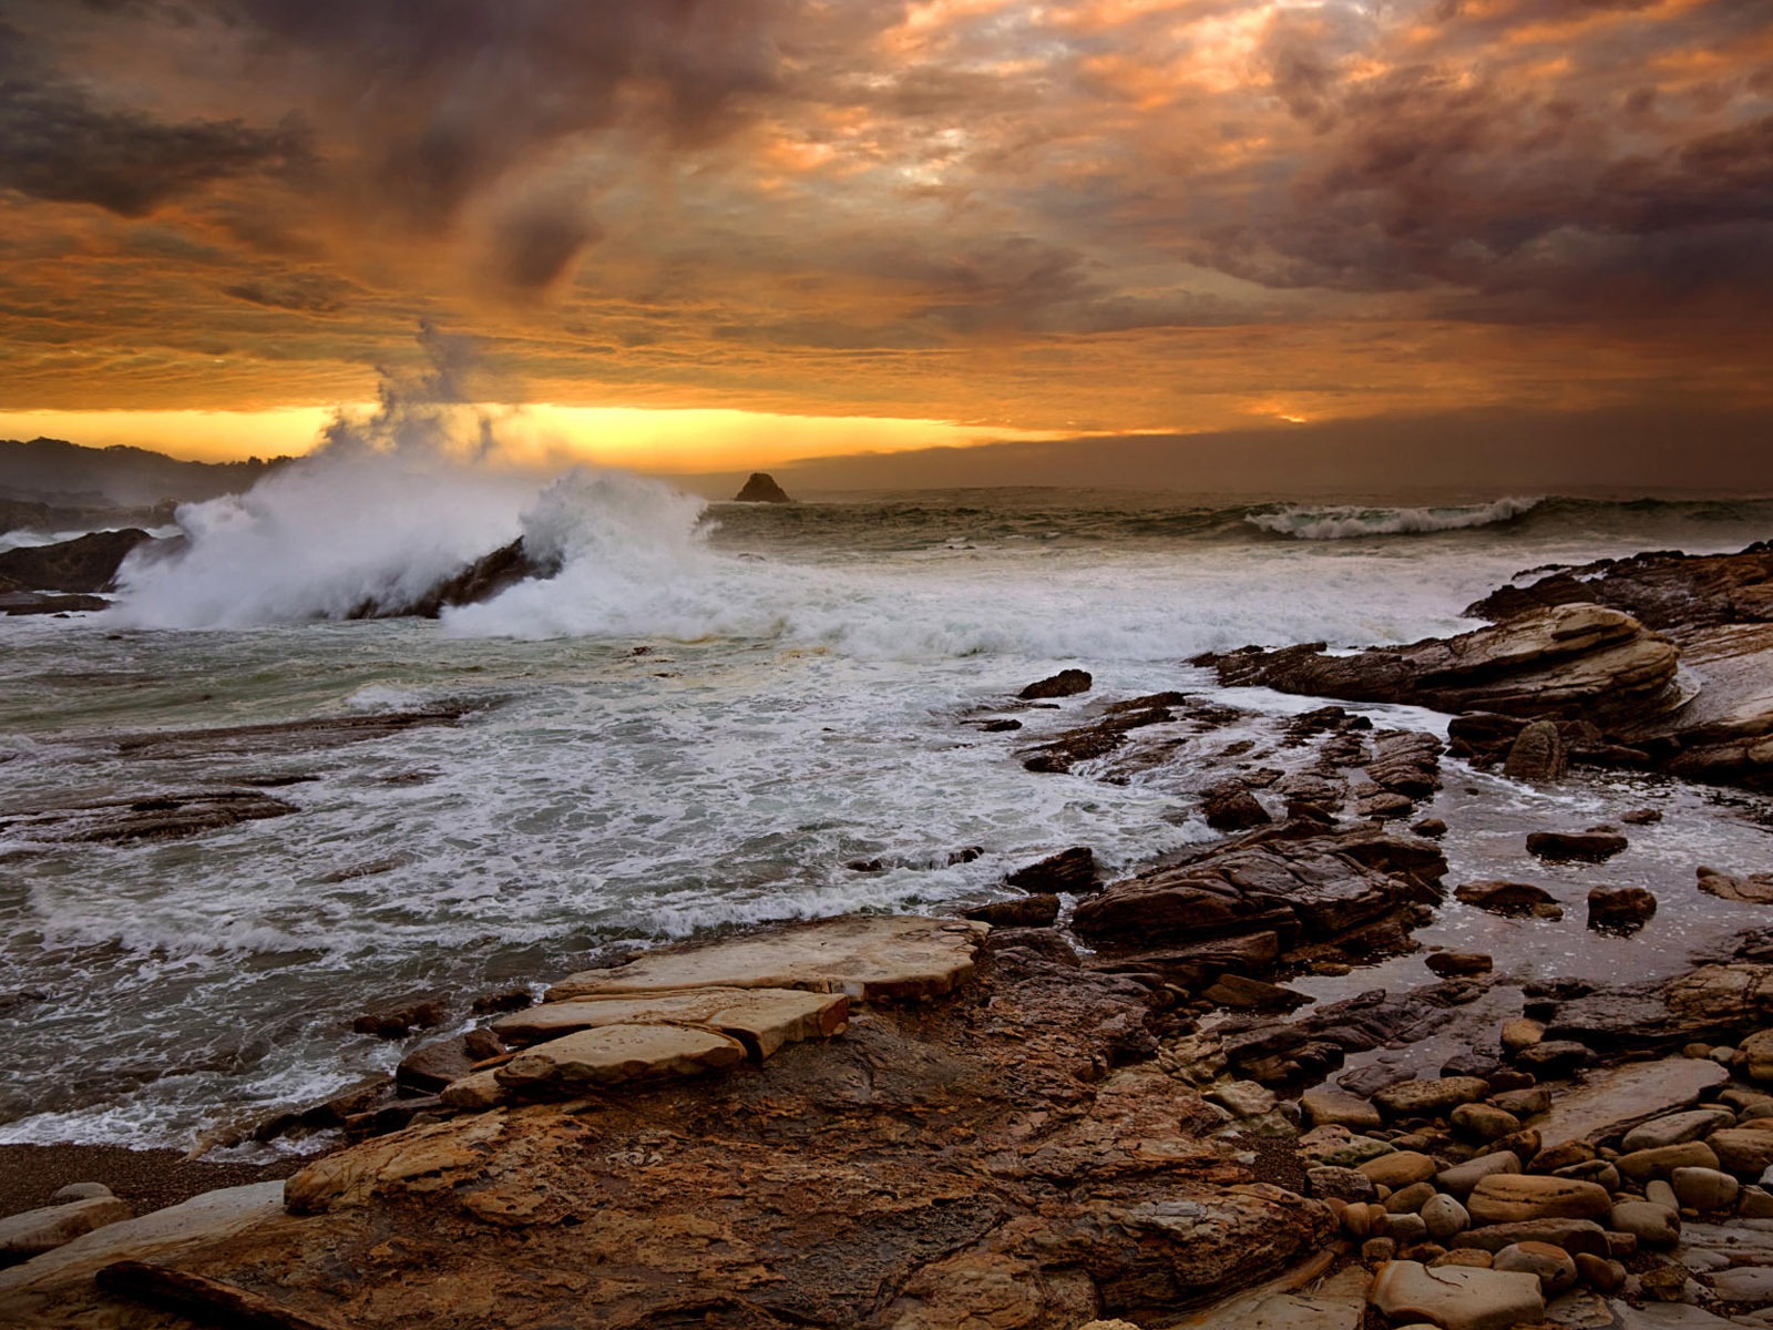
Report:
M1149 1325L1332 1236L1321 1202L1197 1138L1220 1121L1197 1094L1126 1066L1156 1004L993 949L957 1000L761 1066L326 1156L289 1218L170 1264L353 1330ZM60 1296L64 1319L96 1307ZM0 1302L23 1310L44 1307Z

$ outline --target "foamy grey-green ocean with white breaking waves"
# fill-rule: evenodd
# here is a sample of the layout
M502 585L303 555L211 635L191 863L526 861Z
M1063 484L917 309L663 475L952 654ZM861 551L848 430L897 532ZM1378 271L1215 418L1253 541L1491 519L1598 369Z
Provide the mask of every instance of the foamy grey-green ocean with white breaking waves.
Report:
M188 1147L438 1034L381 1041L351 1030L358 1013L436 997L441 1030L466 1029L475 995L619 943L993 899L1007 871L1073 844L1110 872L1136 867L1215 835L1197 807L1213 771L1037 775L1018 750L1160 690L1259 718L1317 704L1218 688L1184 663L1200 651L1454 633L1475 626L1470 601L1527 569L1773 534L1773 500L800 498L706 504L612 472L543 484L363 456L186 507L186 553L126 566L105 614L0 621L0 1144ZM440 621L337 619L519 532L564 560L557 578ZM1066 667L1094 690L1005 709ZM115 741L426 708L465 715L323 748ZM984 732L995 715L1023 729ZM1753 922L1699 897L1691 874L1768 867L1762 800L1447 770L1429 810L1454 825L1449 883L1532 871L1557 887L1521 855L1521 826L1651 802L1668 816L1633 833L1612 880L1652 885L1665 910L1654 945L1629 952L1587 935L1580 908L1532 933L1450 904L1429 940L1507 949L1521 977L1651 975ZM294 810L117 844L37 818L215 789ZM1420 981L1406 958L1353 982Z

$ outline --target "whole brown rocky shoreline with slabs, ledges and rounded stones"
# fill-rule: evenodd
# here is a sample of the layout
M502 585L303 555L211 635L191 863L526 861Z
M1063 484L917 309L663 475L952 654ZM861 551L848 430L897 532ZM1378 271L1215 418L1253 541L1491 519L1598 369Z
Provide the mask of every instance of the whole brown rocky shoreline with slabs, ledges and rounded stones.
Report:
M759 929L534 1005L489 995L397 1078L236 1133L346 1138L287 1183L142 1218L89 1188L0 1220L30 1257L0 1271L0 1318L1773 1325L1773 942L1519 984L1507 954L1417 938L1454 904L1638 936L1667 888L1605 865L1656 807L1521 826L1580 883L1560 899L1452 872L1447 759L1764 789L1769 582L1764 546L1644 555L1496 592L1473 610L1498 622L1457 638L1193 661L1450 713L1447 741L1337 704L1259 720L1186 692L1097 702L1082 670L1030 685L963 724L1037 777L1193 771L1222 837L1106 883L1058 849L965 917ZM1066 725L1025 738L1032 708ZM1773 903L1757 867L1695 862L1683 890ZM1420 977L1360 988L1402 965Z

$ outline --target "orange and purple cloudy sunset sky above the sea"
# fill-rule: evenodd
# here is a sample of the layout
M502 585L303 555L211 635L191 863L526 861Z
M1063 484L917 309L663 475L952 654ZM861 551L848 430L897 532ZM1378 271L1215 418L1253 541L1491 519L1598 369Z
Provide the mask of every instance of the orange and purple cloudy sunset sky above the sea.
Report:
M427 328L663 472L1729 486L1769 310L1769 0L0 0L0 436L298 452Z

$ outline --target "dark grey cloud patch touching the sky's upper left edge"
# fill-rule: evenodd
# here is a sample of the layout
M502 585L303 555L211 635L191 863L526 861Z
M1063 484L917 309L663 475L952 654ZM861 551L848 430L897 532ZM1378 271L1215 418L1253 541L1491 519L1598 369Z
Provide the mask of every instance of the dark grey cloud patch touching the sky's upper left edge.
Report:
M0 188L144 216L215 181L312 163L298 122L165 122L103 106L0 20Z

